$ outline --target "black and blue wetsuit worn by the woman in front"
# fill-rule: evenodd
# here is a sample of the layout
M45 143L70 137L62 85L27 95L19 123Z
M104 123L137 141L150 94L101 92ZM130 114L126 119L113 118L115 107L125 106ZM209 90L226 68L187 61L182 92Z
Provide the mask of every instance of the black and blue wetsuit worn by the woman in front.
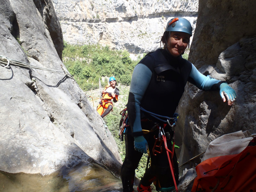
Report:
M169 168L166 151L154 156L152 148L154 135L158 130L143 134L143 130L151 130L155 123L162 122L140 110L140 107L152 113L172 117L184 92L186 83L195 84L202 90L220 90L222 81L204 76L196 67L179 57L173 57L168 50L158 49L145 56L134 68L127 103L127 111L131 130L125 134L126 155L121 170L124 192L133 191L133 180L142 153L134 150L134 136L143 135L148 142L151 166L141 179L141 184L149 186L154 180L159 180L161 188L170 189L173 186L172 174ZM173 132L170 126L165 132ZM172 148L171 139L167 140L168 148ZM164 147L163 147L164 148ZM177 162L174 155L173 162ZM175 178L178 181L178 164L174 165Z

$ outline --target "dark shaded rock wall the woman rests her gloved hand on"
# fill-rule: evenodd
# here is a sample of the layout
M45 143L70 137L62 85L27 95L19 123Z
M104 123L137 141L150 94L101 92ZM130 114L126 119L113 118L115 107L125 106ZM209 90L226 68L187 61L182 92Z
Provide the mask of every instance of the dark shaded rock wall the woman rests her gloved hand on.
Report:
M236 90L237 98L229 107L218 92L200 91L187 84L178 108L180 121L176 130L177 142L182 140L180 163L204 152L210 141L223 134L256 132L255 6L256 2L251 1L199 2L188 60L201 73L227 81ZM186 167L199 162L197 158Z

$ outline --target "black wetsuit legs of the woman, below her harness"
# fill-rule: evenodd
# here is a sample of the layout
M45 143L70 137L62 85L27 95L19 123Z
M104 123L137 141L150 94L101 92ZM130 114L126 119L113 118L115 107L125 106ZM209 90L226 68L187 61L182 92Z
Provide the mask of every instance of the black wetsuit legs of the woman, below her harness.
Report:
M166 127L164 129L165 132L170 132L172 137L172 131L170 127ZM161 188L170 188L172 187L173 180L172 180L172 173L170 170L170 165L167 157L166 150L164 148L164 143L162 143L162 153L155 153L153 154L153 147L155 144L156 139L158 138L159 130L155 130L154 132L150 132L145 134L144 137L148 141L148 148L150 152L151 158L151 165L145 172L143 178L141 179L140 183L144 186L150 186L153 181L157 180L159 182L159 186ZM142 153L134 150L134 138L132 136L131 129L128 129L125 136L125 159L121 169L121 179L123 183L123 191L124 192L132 192L133 191L133 180L135 175L135 169L137 168ZM171 139L167 140L168 149L172 149ZM171 154L170 154L171 155ZM177 164L177 157L174 152L173 156L174 169L175 169L175 178L176 182L179 179L179 171L178 171L178 164Z

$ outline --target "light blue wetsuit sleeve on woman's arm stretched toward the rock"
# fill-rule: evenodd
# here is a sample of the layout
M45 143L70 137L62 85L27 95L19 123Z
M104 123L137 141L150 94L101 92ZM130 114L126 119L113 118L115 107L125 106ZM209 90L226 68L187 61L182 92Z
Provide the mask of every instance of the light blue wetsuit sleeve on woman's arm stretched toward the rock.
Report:
M225 81L214 79L209 75L204 76L193 64L189 74L189 82L202 90L220 90L220 84L225 83Z

